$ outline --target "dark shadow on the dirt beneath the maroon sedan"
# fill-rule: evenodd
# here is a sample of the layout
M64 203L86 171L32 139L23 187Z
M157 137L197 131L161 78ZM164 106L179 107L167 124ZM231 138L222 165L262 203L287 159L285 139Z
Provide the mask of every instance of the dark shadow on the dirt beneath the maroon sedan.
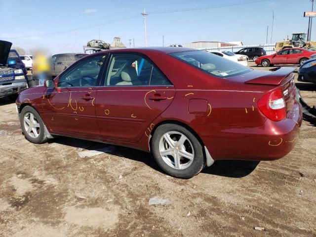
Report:
M106 154L143 162L156 171L164 173L150 153L136 149L61 136L58 136L53 140L49 140L48 143L58 143L61 145L75 147L78 153L80 151L106 149L108 150ZM212 166L205 167L201 172L231 178L241 178L250 174L257 167L259 162L260 161L218 160Z

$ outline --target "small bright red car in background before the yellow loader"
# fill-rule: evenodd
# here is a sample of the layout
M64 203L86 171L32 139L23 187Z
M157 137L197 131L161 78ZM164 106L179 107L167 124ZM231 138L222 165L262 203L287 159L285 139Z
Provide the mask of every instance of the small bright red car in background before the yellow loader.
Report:
M273 66L274 64L299 64L302 65L306 60L311 59L311 56L316 54L305 48L286 48L272 55L266 55L257 58L255 63L263 67Z

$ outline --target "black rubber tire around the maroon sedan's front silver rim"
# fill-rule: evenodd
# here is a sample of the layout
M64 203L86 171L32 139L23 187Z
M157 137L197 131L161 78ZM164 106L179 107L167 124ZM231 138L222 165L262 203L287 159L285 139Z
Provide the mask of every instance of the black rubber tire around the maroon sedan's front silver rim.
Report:
M26 130L25 124L24 124L24 116L27 113L32 113L34 115L34 117L36 118L36 120L38 121L38 123L40 124L39 127L39 136L34 138L32 136L29 135L29 133ZM20 113L20 123L21 123L21 127L23 130L23 134L25 136L25 138L32 142L32 143L36 143L36 144L41 144L41 143L45 143L47 142L48 138L47 138L47 134L46 134L46 129L45 129L45 125L43 123L43 120L40 118L39 113L31 106L26 106L22 109L21 113Z

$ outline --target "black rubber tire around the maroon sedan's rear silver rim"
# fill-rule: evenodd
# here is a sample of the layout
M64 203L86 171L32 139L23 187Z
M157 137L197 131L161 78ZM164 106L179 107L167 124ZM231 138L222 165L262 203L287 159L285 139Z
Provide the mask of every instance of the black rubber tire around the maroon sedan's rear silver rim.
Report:
M159 144L160 144L160 139L162 139L163 135L167 132L179 132L187 137L186 143L189 144L190 146L192 145L193 151L194 151L194 158L191 161L192 163L183 169L176 169L175 167L171 167L168 165L160 155L160 150L159 150ZM181 136L181 135L180 135ZM160 168L166 172L167 174L177 177L177 178L183 178L183 179L188 179L192 178L193 176L197 175L204 167L206 164L206 158L203 153L203 147L201 143L198 141L197 137L188 129L177 125L177 124L171 124L171 123L165 123L160 125L156 131L154 132L153 138L152 138L152 153L153 156L160 166ZM181 159L186 159L186 158L181 158ZM181 160L183 161L183 160ZM180 161L180 162L181 162Z

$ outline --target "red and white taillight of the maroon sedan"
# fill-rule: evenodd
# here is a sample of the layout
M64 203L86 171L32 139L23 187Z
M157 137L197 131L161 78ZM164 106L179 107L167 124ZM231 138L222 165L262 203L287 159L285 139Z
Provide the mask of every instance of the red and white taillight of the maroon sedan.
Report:
M280 87L265 94L258 100L257 105L262 114L273 121L286 118L285 100Z

